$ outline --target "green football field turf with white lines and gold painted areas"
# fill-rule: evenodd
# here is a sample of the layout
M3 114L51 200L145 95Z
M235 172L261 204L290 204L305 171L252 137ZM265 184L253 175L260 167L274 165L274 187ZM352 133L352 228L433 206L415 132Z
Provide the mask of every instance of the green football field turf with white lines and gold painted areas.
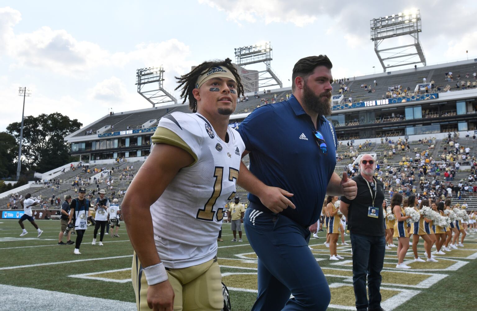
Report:
M28 235L20 237L18 221L0 219L0 310L135 310L130 281L133 249L124 223L120 237L106 235L104 246L91 245L93 228L88 227L79 256L73 255L74 245L57 244L59 221L37 223L44 230L41 237L28 222ZM230 224L222 228L218 263L232 311L249 311L257 292L257 257L245 235L243 242L231 242ZM310 246L330 284L328 310L355 310L351 245L339 244L338 254L345 259L330 261L329 249L323 245L325 233L319 236L311 238ZM349 236L345 238L351 243ZM190 239L193 243L194 237ZM425 258L420 242L419 256ZM437 263L409 263L409 270L395 269L395 248L386 251L382 307L388 311L477 310L477 234L469 233L464 244L436 256ZM412 258L410 249L405 260ZM299 259L296 264L300 265Z

